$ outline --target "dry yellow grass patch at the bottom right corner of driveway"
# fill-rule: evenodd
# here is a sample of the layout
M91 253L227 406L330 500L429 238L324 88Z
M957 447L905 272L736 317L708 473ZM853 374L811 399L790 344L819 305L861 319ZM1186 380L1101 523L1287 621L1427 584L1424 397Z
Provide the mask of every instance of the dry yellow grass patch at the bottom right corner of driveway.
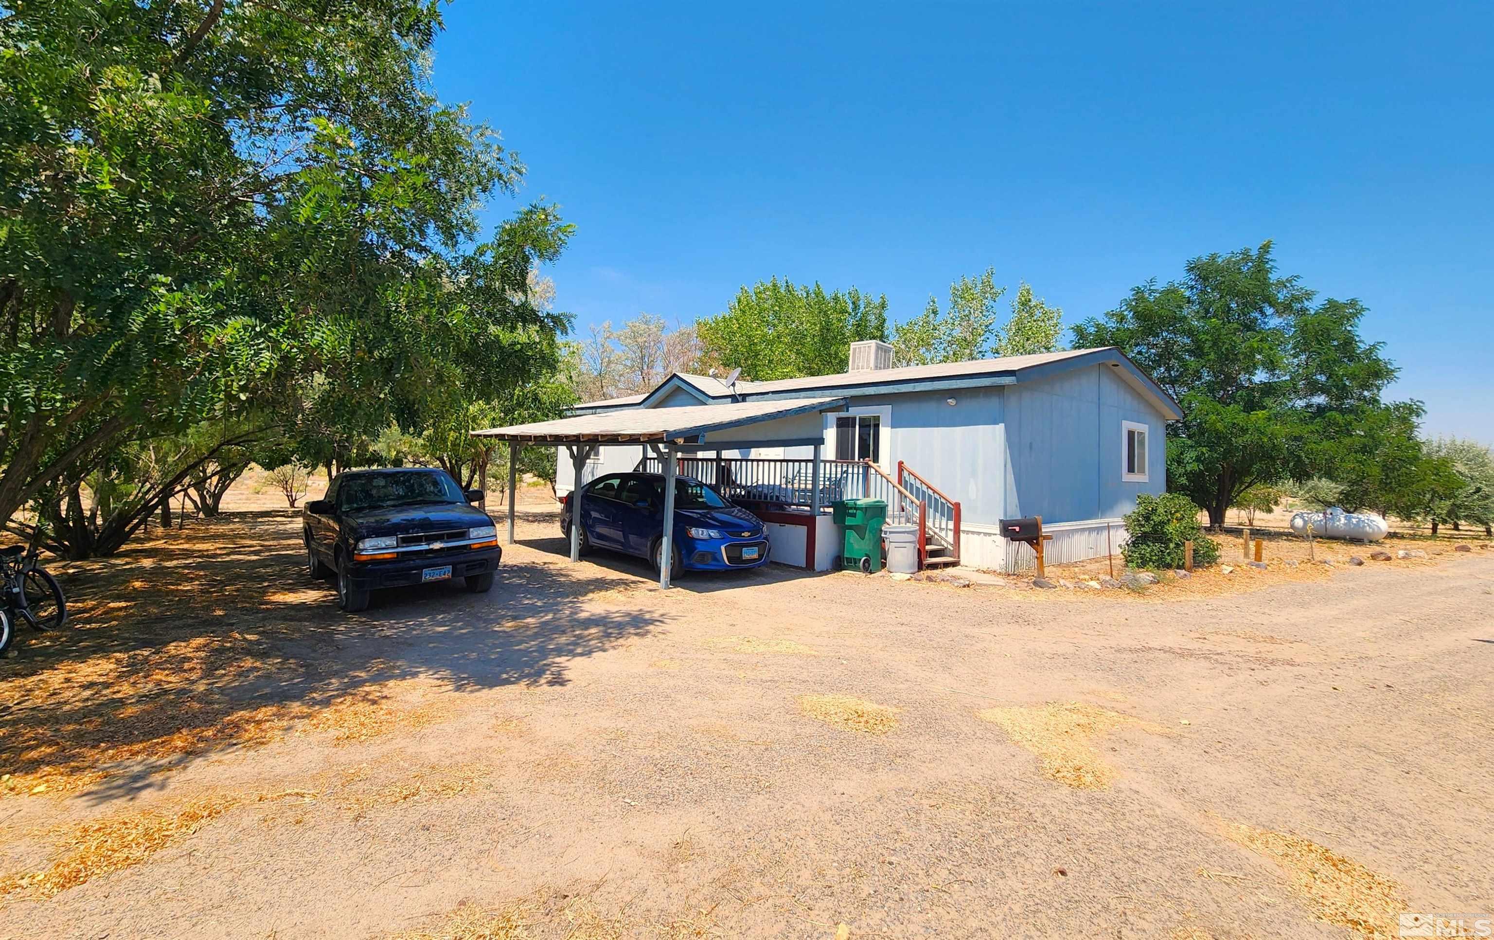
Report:
M1400 934L1398 915L1409 904L1395 882L1300 835L1245 823L1227 823L1224 831L1231 840L1280 865L1292 892L1307 903L1319 921L1376 940Z

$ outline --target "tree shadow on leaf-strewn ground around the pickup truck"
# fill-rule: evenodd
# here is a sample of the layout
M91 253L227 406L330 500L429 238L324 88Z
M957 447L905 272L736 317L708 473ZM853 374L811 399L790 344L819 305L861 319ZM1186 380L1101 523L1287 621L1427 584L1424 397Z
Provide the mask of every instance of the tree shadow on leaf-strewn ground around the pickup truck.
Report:
M161 768L281 740L397 680L560 686L569 661L659 625L589 605L617 586L607 572L508 557L489 593L399 589L344 614L282 513L205 520L60 571L70 626L0 661L0 795L148 789Z

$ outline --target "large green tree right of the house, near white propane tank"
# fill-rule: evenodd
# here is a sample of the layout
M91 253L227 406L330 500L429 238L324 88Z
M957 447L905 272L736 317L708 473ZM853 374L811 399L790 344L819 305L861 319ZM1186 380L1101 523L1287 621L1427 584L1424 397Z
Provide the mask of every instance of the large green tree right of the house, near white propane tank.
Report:
M1300 278L1280 276L1265 242L1135 287L1074 339L1119 347L1179 401L1186 417L1168 426L1167 484L1219 526L1258 483L1331 471L1334 445L1385 406L1395 368L1361 339L1363 317L1358 300L1316 302Z

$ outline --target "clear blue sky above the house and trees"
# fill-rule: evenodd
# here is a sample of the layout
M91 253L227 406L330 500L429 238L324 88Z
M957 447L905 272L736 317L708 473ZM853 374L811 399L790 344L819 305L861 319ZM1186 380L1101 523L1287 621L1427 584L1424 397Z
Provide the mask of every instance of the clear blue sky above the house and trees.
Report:
M901 320L986 266L1073 323L1273 239L1369 305L1428 433L1494 442L1488 3L459 0L447 25L442 99L577 226L548 273L581 330L775 273Z

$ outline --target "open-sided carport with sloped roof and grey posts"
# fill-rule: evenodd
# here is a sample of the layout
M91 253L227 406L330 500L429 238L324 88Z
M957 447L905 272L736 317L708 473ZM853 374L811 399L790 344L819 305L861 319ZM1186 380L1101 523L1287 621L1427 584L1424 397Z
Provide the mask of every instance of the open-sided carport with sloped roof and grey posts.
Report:
M674 480L681 453L751 447L813 447L811 492L820 493L820 448L825 442L820 414L846 406L844 398L813 398L687 408L629 408L584 414L554 421L474 430L475 438L509 444L508 448L508 544L514 544L514 505L518 492L518 447L565 447L575 469L571 498L571 560L581 559L581 471L599 447L636 445L650 448L663 463L663 557L659 586L669 586L674 545ZM819 513L819 505L814 505Z

